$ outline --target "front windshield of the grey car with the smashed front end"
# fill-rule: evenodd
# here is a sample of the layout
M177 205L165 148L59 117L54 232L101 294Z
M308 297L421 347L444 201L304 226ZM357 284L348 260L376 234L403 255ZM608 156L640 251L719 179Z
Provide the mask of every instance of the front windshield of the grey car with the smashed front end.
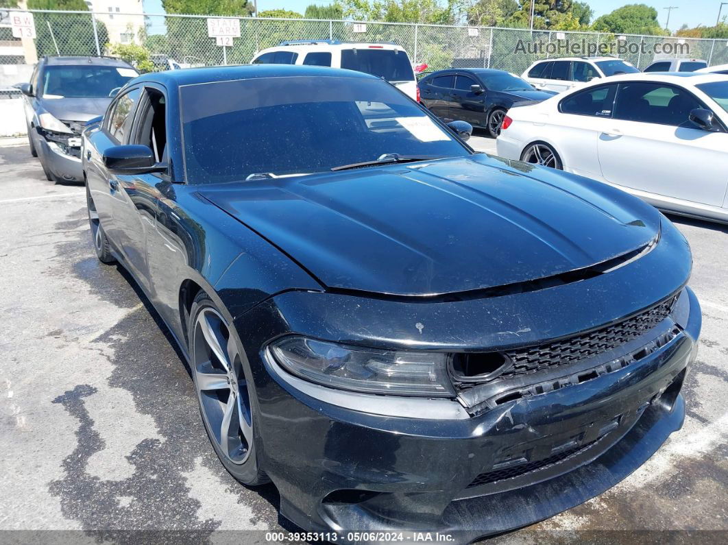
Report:
M58 65L43 71L45 98L101 98L138 76L124 66Z

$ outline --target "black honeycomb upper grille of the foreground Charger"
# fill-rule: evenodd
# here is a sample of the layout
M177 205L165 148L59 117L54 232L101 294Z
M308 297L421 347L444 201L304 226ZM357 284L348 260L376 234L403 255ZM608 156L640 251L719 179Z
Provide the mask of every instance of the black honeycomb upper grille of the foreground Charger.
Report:
M622 346L667 318L675 301L676 297L671 297L641 314L591 333L574 335L553 343L507 351L506 354L513 362L513 367L502 373L499 378L526 375L545 368L567 365Z

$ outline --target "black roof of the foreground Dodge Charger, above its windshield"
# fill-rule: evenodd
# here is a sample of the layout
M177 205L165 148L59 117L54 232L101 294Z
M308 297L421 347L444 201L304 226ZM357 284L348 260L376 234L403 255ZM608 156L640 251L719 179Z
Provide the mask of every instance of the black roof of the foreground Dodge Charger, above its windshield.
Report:
M167 88L182 87L215 81L231 81L250 78L285 78L301 76L349 77L361 79L377 79L368 73L329 68L328 66L309 66L292 64L249 64L232 66L207 66L205 68L182 68L164 72L142 74L127 83L127 86L144 81L157 82Z

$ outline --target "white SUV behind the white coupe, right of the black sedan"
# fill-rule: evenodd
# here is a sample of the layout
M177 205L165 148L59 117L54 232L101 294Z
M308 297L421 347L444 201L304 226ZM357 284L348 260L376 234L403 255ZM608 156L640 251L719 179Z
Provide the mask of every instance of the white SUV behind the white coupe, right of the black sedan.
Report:
M636 72L637 68L626 60L614 57L564 57L537 60L521 77L537 89L562 92L579 82Z

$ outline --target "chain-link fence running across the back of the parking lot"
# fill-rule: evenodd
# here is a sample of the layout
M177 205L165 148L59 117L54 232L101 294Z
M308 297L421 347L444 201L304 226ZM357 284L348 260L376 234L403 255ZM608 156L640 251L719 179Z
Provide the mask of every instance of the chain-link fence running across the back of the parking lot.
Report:
M240 37L221 47L207 35L207 17L200 15L31 12L36 39L13 38L9 26L0 26L0 65L33 64L43 55L107 55L110 44L143 47L155 70L170 68L170 61L181 67L245 64L259 50L291 39L392 42L428 71L485 67L520 74L534 60L594 55L614 55L637 68L665 57L728 63L727 39L241 17Z

